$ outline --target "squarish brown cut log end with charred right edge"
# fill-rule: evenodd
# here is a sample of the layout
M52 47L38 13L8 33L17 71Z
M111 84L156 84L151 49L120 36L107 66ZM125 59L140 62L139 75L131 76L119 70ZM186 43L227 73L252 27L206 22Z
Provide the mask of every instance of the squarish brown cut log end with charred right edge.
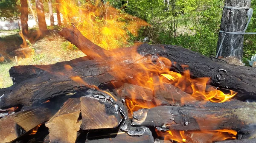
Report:
M108 102L90 97L80 100L83 130L116 128L122 120L118 108Z

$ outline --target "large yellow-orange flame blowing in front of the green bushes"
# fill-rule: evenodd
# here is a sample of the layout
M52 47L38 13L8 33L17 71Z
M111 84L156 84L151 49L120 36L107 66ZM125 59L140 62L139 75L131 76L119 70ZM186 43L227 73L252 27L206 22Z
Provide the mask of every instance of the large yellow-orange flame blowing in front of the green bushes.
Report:
M61 0L60 3L64 25L79 23L79 31L106 50L127 45L128 33L137 36L138 29L148 25L144 20L113 8L108 2L103 5L101 0L88 0L81 6L73 0Z

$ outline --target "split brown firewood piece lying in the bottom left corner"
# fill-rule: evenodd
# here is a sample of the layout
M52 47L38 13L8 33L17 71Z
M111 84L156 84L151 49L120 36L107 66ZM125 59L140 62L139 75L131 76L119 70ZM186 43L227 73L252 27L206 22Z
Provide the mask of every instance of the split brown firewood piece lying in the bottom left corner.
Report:
M9 143L48 121L53 115L52 109L37 106L2 118L0 119L0 140L2 143Z

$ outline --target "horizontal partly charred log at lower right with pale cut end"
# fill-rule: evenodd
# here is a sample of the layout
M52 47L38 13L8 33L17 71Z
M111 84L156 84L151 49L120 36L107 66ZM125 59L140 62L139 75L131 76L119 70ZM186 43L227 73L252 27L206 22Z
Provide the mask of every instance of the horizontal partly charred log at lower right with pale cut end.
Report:
M256 123L255 106L255 102L230 101L140 109L134 112L132 125L159 126L171 130L232 129L251 132L249 126Z

